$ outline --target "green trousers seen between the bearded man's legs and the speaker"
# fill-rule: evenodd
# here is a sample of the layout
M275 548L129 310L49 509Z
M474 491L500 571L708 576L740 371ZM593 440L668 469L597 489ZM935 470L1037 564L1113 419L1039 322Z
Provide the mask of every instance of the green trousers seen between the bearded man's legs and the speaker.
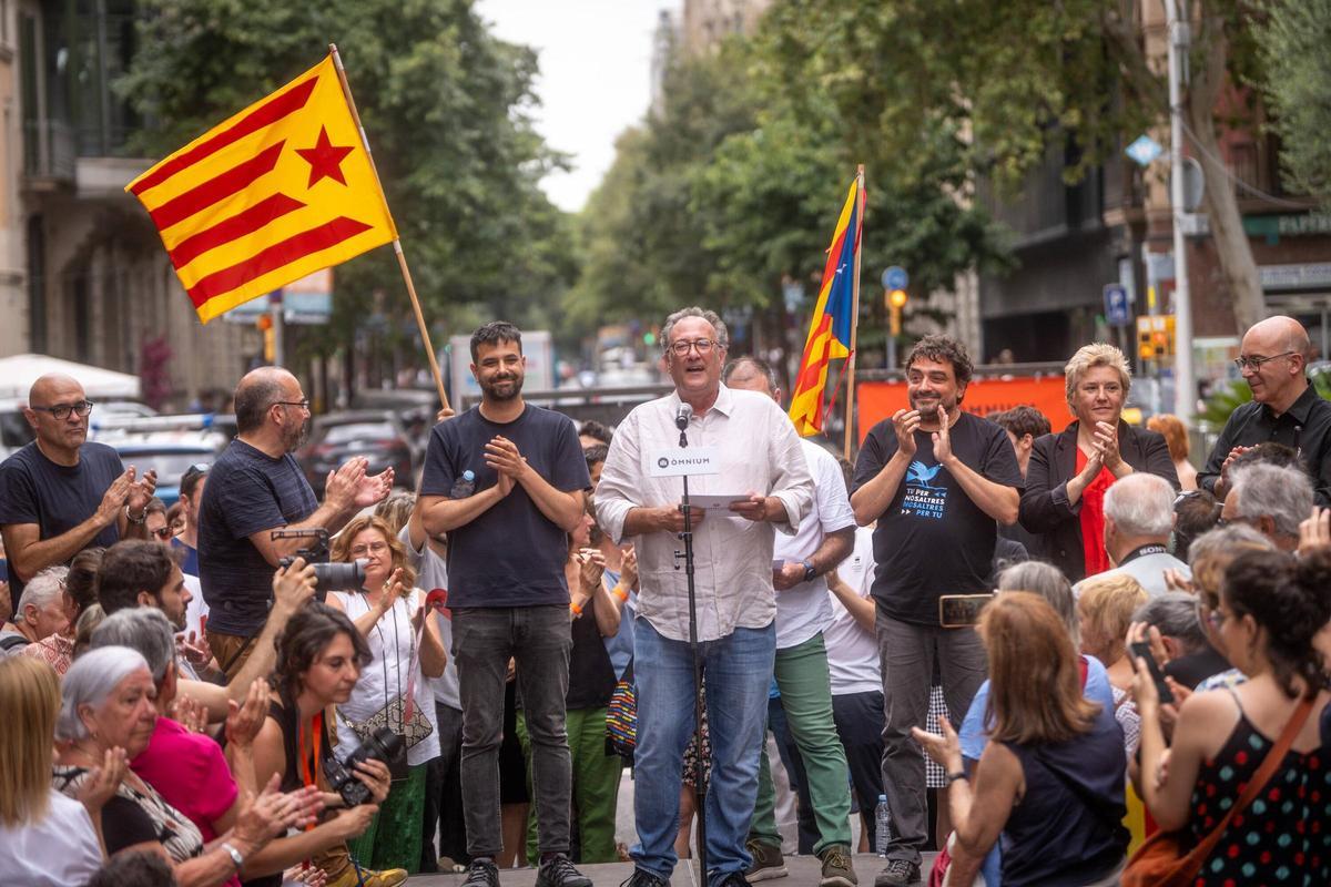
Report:
M616 862L615 806L619 801L619 775L623 761L618 754L606 754L606 709L570 709L564 714L568 730L568 757L572 765L571 822L578 823L578 862ZM518 711L518 741L527 758L527 789L531 791L531 741L527 721ZM536 852L536 806L527 814L527 859L539 859ZM535 864L535 863L532 863Z

